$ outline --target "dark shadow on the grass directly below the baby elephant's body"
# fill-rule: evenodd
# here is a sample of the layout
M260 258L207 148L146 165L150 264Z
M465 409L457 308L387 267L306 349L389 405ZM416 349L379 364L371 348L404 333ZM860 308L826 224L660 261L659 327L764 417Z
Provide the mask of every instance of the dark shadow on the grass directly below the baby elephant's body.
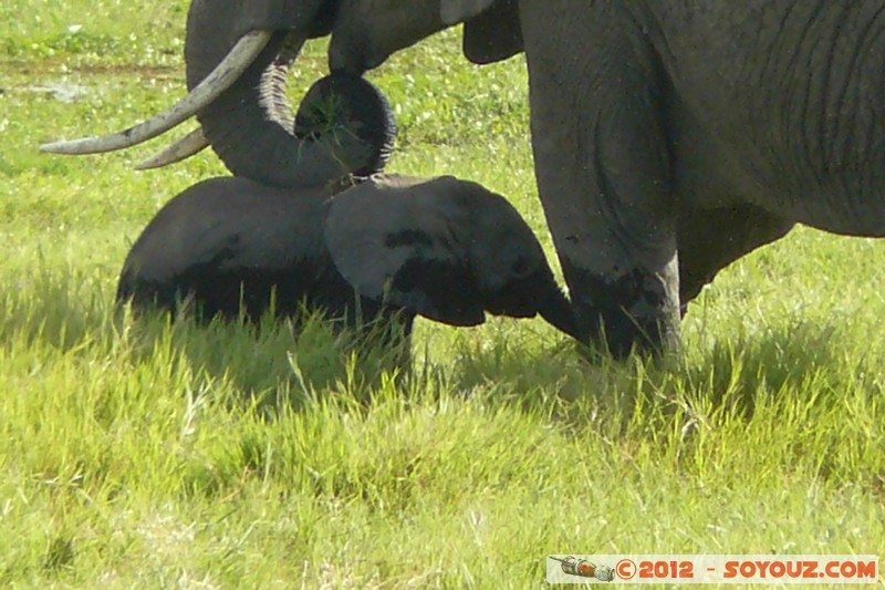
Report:
M266 317L257 324L145 311L128 307L118 321L129 323L149 356L168 346L195 374L232 385L230 402L246 402L268 417L280 408L301 410L319 398L366 403L385 379L408 368L408 341L385 343L379 324L360 331L342 328L317 312L294 321Z

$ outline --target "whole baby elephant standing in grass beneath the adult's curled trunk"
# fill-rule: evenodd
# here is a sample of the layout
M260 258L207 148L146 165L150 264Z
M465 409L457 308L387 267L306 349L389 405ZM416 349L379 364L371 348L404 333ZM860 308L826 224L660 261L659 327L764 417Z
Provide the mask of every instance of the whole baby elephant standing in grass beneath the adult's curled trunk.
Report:
M269 309L366 321L416 314L476 325L540 313L574 334L569 300L525 221L501 196L456 179L376 175L341 193L201 182L169 201L129 251L118 300L199 318Z

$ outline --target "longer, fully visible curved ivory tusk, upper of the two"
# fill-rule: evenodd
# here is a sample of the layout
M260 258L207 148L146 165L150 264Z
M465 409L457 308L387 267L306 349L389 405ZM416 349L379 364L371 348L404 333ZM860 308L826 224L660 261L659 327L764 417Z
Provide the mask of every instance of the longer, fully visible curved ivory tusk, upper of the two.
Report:
M152 139L194 116L229 89L261 53L272 34L270 31L251 31L244 34L221 60L221 63L187 96L144 123L102 137L83 137L70 142L43 144L40 146L40 151L70 155L101 154L132 147Z

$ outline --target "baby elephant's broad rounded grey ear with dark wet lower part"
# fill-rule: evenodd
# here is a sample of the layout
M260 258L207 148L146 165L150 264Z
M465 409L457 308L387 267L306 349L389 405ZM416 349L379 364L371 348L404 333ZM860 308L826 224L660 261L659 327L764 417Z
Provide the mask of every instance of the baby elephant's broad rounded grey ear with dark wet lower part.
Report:
M469 225L449 178L378 176L336 195L325 242L363 297L452 325L486 320L465 237Z

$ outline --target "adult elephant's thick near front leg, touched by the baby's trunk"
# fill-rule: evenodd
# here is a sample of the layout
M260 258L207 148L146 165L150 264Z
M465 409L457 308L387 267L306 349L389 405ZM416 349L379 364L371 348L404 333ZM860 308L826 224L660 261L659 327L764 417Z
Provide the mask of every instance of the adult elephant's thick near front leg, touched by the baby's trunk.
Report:
M539 193L577 332L615 355L676 348L679 323L664 82L623 4L520 3Z

